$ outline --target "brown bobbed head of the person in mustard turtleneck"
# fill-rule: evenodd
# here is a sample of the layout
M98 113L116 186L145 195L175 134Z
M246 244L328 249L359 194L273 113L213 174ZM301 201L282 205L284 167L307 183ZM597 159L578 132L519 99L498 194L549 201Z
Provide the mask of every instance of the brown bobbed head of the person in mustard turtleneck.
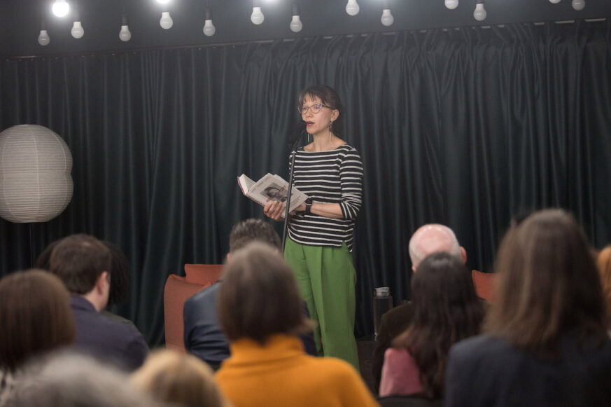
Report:
M301 312L295 277L272 247L248 244L232 254L223 272L218 322L230 341L251 338L261 345L274 333L311 329Z

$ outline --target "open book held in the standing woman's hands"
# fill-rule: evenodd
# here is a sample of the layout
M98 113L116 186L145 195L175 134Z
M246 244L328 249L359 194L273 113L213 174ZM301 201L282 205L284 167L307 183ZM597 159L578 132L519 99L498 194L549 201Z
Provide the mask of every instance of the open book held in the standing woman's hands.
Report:
M259 181L241 174L238 177L238 184L242 193L259 205L265 206L269 202L285 202L288 198L288 182L279 175L265 174ZM290 195L290 212L301 205L307 199L307 195L293 186L293 193Z

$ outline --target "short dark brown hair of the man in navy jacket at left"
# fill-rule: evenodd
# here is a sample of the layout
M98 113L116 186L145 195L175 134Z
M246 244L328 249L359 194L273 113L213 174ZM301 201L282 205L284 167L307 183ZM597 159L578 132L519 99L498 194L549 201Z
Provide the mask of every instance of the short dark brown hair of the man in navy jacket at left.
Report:
M90 292L101 273L111 273L111 252L90 235L70 235L59 240L51 252L49 271L73 294Z

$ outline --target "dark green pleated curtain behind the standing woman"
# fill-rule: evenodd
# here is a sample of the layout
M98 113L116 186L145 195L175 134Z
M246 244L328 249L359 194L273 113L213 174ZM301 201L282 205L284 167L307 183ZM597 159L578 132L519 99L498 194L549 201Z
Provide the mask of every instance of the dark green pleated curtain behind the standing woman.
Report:
M0 273L90 233L122 247L118 312L162 343L164 282L220 263L230 227L262 209L236 177L286 176L298 92L335 88L365 166L356 228L357 335L373 287L407 299L407 243L454 228L468 265L493 271L512 215L565 207L611 241L611 25L507 25L206 48L5 60L0 127L39 124L73 154L73 200L48 223L0 221ZM276 225L280 230L280 225Z

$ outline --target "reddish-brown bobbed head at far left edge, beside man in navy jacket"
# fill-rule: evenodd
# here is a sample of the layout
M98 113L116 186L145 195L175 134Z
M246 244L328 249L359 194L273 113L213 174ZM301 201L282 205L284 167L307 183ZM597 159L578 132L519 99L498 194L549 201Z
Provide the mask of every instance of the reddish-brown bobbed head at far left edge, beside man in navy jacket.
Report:
M0 368L14 371L34 354L70 345L75 336L69 293L44 270L0 280Z

